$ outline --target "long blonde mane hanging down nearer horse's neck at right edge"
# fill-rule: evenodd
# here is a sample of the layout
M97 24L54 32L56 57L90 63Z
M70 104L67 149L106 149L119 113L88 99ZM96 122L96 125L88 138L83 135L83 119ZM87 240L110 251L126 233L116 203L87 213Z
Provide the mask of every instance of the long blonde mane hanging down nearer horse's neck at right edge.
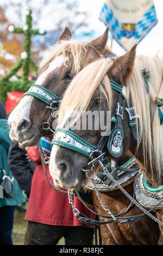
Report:
M144 69L150 74L149 93L142 76ZM158 109L154 101L156 97L163 98L162 74L163 61L158 56L140 55L136 57L133 73L126 82L128 105L133 105L135 113L139 116L137 150L142 143L145 166L150 166L159 184L163 178L163 126L160 125Z

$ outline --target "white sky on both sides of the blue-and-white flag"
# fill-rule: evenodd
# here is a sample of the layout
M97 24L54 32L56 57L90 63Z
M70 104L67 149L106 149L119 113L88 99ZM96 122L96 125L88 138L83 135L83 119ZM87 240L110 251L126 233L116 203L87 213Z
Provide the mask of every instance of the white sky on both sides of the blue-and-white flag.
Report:
M96 28L98 34L101 35L105 30L105 25L103 22L98 20L99 12L101 10L103 1L101 0L78 0L81 9L90 10L90 20L88 23L90 27ZM135 0L136 1L136 0ZM137 54L143 54L148 56L153 56L159 52L159 55L163 57L163 1L154 0L156 15L158 18L157 25L149 32L146 37L137 45ZM110 45L110 39L108 40L108 46ZM162 49L162 50L161 50ZM117 55L122 55L125 51L120 45L113 41L112 50L117 53Z

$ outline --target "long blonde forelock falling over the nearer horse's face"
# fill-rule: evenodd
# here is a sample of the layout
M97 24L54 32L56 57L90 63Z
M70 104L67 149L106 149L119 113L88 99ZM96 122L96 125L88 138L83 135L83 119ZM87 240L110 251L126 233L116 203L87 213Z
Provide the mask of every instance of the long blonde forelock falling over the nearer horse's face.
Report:
M109 59L98 59L86 66L74 77L65 91L60 104L58 127L61 126L66 113L73 110L74 115L71 115L71 123L68 123L68 127L71 127L82 116L83 111L87 110L97 88L99 99L102 98L103 94L107 101L108 109L111 110L112 90L106 73L112 66L112 63ZM103 83L101 84L102 80Z

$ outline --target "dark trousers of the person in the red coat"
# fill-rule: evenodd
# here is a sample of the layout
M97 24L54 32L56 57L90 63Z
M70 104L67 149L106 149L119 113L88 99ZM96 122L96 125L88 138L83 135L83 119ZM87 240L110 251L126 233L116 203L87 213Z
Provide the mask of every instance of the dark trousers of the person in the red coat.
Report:
M28 221L24 245L57 245L61 237L65 245L93 245L93 228L46 225Z

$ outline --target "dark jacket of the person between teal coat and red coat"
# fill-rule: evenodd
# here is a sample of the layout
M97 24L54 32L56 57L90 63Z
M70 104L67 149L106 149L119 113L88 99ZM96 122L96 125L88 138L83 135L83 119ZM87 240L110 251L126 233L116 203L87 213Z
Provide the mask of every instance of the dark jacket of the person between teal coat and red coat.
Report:
M29 198L33 173L36 168L36 164L30 162L30 160L27 158L26 150L20 148L18 146L18 143L13 141L11 141L9 148L8 164L12 175L16 178L18 182L18 185Z

